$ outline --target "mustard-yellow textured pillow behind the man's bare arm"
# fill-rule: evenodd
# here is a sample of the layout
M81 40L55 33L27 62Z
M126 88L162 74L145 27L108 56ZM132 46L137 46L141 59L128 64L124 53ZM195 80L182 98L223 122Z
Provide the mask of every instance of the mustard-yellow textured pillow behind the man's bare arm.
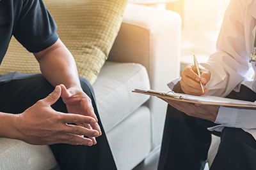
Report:
M94 83L122 23L128 0L45 0L61 41L74 56L80 76ZM0 74L40 73L38 63L12 38ZM18 53L17 53L18 52Z

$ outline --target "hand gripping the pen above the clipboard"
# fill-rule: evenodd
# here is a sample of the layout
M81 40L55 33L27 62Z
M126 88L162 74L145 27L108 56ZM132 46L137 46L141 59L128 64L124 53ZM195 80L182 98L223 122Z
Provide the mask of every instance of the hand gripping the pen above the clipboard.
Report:
M201 77L196 74L196 67L193 64L187 64L184 71L180 74L180 87L186 94L201 96L208 92L205 85L211 78L211 72L202 66L200 66L199 69ZM204 87L204 93L202 92L200 81Z

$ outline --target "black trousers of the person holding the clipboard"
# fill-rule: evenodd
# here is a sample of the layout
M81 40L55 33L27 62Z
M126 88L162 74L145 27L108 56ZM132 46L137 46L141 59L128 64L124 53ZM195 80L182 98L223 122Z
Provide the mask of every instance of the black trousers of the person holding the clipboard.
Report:
M173 90L182 92L179 83ZM243 85L240 92L232 91L227 97L256 101L255 92ZM256 141L253 136L242 129L230 127L225 127L222 132L207 130L207 127L214 125L216 124L208 120L189 117L169 105L158 169L204 169L211 145L211 133L213 133L221 137L221 143L212 162L211 170L255 170Z

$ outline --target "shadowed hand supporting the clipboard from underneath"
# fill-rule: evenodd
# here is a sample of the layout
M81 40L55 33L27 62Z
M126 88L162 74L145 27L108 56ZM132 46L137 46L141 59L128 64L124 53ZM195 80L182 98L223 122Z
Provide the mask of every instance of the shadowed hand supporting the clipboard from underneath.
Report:
M198 117L205 120L210 120L211 122L215 122L220 108L220 106L215 105L193 104L165 98L161 99L172 105L177 110L180 110L191 117Z

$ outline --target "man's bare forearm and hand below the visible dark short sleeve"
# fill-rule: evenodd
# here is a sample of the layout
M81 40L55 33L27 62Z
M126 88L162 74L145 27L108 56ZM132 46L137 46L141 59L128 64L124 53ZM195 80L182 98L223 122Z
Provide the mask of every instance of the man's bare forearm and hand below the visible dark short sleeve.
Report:
M40 64L42 74L52 85L63 83L63 85L60 85L61 97L67 105L68 113L85 115L97 120L90 97L81 89L76 61L61 40L58 39L54 45L41 52L34 53L34 55ZM83 124L83 122L79 122L77 125L87 129L95 129L101 135L100 127L97 123ZM88 137L92 139L93 145L97 143L95 138Z

